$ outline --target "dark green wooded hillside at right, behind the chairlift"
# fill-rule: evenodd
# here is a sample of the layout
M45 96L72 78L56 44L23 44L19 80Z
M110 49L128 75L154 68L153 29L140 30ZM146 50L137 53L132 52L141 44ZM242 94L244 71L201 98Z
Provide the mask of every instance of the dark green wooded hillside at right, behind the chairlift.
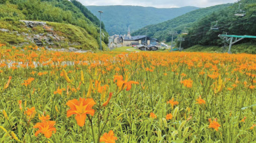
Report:
M244 17L235 16L239 8L246 11ZM217 30L212 30L211 22L218 21ZM256 35L256 0L240 0L221 11L204 17L192 25L189 34L184 36L184 47L191 47L196 44L201 45L224 45L223 40L218 38L219 34L227 33L229 35ZM251 42L256 44L256 39L245 38L239 43ZM238 43L238 44L239 44Z

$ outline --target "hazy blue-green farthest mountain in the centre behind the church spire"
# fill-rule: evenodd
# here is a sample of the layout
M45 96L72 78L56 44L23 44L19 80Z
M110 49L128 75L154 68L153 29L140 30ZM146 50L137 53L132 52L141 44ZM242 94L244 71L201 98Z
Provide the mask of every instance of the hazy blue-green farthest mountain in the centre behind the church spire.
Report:
M197 10L198 7L186 6L181 8L154 8L142 6L86 6L99 18L103 11L102 20L110 35L126 34L128 26L131 32L147 25L173 19L187 12Z

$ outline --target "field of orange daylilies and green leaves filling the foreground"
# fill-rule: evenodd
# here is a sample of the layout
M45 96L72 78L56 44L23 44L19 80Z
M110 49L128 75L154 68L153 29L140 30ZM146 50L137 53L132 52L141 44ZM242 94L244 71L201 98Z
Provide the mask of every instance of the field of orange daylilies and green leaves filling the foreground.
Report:
M256 55L0 47L0 143L256 143Z

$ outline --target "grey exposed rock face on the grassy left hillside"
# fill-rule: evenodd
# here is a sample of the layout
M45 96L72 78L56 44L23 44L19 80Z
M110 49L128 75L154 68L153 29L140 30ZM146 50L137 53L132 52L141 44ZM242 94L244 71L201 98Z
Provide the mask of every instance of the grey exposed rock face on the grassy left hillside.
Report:
M66 37L58 35L58 34L61 34L61 32L54 31L53 27L48 26L46 22L36 22L36 21L26 21L26 20L20 20L20 22L25 23L28 30L27 32L11 31L9 29L0 28L0 32L15 34L17 36L20 36L21 38L24 38L24 41L22 43L19 43L15 46L23 46L23 45L34 43L37 46L40 46L40 47L44 46L46 47L46 49L53 50L53 51L68 51L68 52L79 52L79 53L87 52L87 50L80 50L80 49L73 48L73 46L74 47L79 46L81 45L81 43L69 42ZM64 44L65 47L69 46L69 48L58 49L58 48L61 48L62 44Z

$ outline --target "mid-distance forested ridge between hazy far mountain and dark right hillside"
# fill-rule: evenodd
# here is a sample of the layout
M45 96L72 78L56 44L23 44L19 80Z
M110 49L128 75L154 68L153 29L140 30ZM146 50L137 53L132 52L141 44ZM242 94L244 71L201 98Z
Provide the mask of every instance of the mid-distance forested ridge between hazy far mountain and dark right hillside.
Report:
M147 34L150 37L157 38L158 40L170 41L171 31L177 31L178 33L180 33L181 31L186 30L185 28L190 28L193 25L193 22L202 19L203 17L213 13L214 11L221 11L223 9L226 9L228 6L232 6L232 4L223 4L198 9L166 22L146 26L145 28L147 28ZM132 35L145 34L145 28L137 30L136 32L132 33Z

